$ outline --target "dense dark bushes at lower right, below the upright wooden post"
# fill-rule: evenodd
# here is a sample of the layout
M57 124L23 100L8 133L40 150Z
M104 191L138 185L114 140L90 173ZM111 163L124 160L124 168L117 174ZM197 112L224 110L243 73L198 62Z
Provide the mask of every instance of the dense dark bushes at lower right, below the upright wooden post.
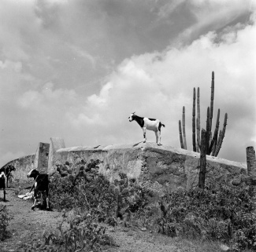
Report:
M180 188L161 198L158 231L232 242L237 249L256 249L255 203L245 188L220 185L209 190Z

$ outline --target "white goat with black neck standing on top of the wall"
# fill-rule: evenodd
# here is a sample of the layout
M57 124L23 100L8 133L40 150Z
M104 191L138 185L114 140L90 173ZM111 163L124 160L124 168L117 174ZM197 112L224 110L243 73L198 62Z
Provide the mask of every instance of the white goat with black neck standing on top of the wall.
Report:
M158 119L150 119L147 117L140 117L138 115L135 115L135 112L132 113L128 117L129 121L136 121L138 122L139 126L143 129L143 142L146 143L146 130L153 130L156 137L156 142L158 145L161 145L161 126L164 126Z

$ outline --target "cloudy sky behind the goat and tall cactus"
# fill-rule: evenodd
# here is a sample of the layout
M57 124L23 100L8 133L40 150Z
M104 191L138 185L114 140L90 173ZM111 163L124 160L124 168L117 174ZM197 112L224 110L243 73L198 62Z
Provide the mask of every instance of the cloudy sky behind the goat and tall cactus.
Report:
M191 144L193 87L206 128L211 72L228 126L224 159L256 148L256 1L2 0L0 166L62 137L66 147L137 143L128 116L158 118L162 144L180 147L186 108ZM147 132L147 141L155 141Z

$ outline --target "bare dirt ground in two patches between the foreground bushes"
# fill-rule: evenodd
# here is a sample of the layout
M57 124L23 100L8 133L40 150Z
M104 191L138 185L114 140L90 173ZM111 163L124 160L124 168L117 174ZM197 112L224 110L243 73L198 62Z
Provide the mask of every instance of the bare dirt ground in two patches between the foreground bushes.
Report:
M31 210L32 200L20 199L15 195L15 188L8 188L6 191L7 202L2 201L2 191L0 192L0 204L6 205L13 220L9 222L8 230L12 236L0 242L0 252L19 251L21 244L28 243L31 239L39 239L44 230L55 228L61 221L61 213L57 211ZM113 252L184 252L198 251L189 242L187 245L176 243L175 239L168 236L161 236L143 231L139 228L112 228L109 227L109 236L112 236L116 247L109 250ZM194 247L194 249L190 249ZM186 248L186 249L184 249Z

